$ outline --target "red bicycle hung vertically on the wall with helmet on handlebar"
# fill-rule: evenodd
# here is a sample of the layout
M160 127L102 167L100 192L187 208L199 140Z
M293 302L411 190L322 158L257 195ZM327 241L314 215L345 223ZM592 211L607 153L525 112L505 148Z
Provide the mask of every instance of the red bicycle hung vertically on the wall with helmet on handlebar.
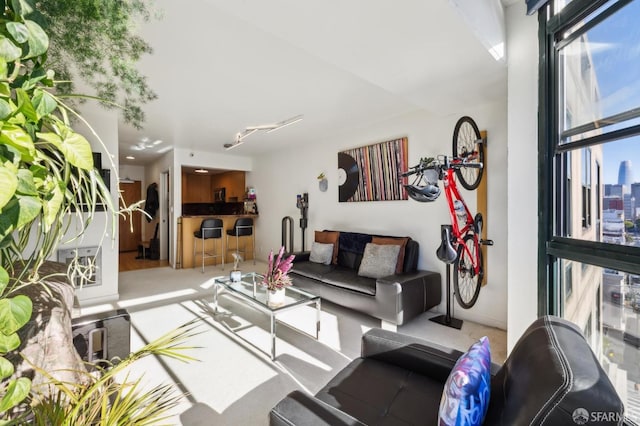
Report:
M454 265L453 287L456 300L460 306L469 309L478 300L484 278L480 246L493 245L493 241L482 239L482 214L474 216L471 213L455 179L457 176L460 184L468 190L478 187L484 170L484 143L475 122L470 117L462 117L454 130L453 157L440 155L437 158L423 158L418 165L401 174L403 177L415 175L414 181L404 184L404 187L409 197L419 202L435 201L441 194L438 181L443 183L450 224L441 226L442 242L436 255L447 264L446 325L452 322L449 312L449 265Z

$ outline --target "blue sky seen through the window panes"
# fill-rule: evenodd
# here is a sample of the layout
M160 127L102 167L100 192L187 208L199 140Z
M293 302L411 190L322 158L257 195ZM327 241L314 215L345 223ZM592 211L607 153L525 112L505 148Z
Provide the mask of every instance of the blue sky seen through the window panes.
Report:
M616 12L587 33L598 79L603 117L640 107L640 2ZM636 122L637 123L637 122ZM618 169L631 161L640 181L640 137L603 145L603 182L618 183Z

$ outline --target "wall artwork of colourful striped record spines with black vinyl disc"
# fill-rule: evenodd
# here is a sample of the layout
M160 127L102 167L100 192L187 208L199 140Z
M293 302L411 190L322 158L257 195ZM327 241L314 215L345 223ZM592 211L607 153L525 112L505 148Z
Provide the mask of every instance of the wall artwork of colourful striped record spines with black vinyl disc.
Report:
M339 201L408 199L400 179L407 155L406 137L339 152Z

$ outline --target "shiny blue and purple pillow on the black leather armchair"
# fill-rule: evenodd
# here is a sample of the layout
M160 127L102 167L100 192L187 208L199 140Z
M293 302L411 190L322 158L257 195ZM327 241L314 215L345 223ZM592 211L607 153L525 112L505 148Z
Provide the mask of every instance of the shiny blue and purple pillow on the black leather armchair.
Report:
M451 370L442 390L440 426L481 425L491 394L491 350L487 336L471 345Z

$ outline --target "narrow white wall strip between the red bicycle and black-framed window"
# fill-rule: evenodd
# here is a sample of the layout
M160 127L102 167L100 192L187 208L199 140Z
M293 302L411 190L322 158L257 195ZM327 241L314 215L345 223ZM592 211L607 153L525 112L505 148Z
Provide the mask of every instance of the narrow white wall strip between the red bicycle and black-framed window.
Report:
M538 19L524 2L506 9L509 255L507 350L537 318Z

